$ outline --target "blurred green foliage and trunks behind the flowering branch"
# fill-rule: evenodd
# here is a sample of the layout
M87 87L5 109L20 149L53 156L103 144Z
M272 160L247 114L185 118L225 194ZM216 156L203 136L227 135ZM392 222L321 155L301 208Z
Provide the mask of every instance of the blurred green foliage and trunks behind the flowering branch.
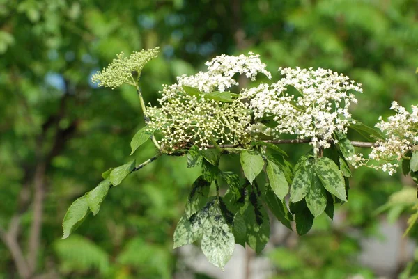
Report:
M418 103L417 0L0 0L1 279L418 278L418 231L402 237L415 186L401 172L368 168L355 170L334 221L320 216L303 237L272 223L263 253L237 246L224 273L196 246L172 250L199 176L184 157L130 175L59 240L71 202L130 160L130 139L144 126L134 88L96 88L91 74L121 51L157 46L141 80L152 104L163 83L248 51L273 80L277 68L299 66L362 83L352 112L366 125L390 115L393 100ZM284 148L294 163L301 151ZM153 154L149 143L133 157Z

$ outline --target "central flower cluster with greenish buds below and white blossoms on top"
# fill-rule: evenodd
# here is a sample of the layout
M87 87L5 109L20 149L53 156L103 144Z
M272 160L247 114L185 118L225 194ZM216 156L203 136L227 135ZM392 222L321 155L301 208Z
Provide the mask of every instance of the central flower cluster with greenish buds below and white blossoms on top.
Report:
M207 62L208 71L192 76L177 77L178 83L164 85L160 108L150 107L146 114L150 118L150 129L157 129L162 134L160 143L165 150L171 151L217 142L220 144L240 143L247 136L247 127L251 115L240 99L231 102L219 102L205 97L215 91L223 92L238 85L235 74L245 74L254 80L261 72L271 78L257 55L217 56ZM189 94L183 86L192 87L196 92Z

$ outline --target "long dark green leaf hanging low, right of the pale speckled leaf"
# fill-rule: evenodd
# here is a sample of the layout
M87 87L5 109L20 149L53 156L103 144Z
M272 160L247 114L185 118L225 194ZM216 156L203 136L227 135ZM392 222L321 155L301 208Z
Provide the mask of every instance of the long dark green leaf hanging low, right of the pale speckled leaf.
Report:
M245 225L247 225L247 244L261 253L270 238L270 220L261 202L251 193L251 202L245 210Z

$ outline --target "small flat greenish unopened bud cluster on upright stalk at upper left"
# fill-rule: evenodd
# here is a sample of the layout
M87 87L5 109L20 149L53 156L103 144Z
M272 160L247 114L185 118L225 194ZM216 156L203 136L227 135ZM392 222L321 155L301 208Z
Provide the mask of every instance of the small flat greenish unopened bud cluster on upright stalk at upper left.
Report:
M93 74L91 81L98 83L98 86L110 87L112 89L124 83L132 83L132 72L141 74L142 68L148 61L157 57L159 47L155 49L134 51L129 57L121 52L106 68Z

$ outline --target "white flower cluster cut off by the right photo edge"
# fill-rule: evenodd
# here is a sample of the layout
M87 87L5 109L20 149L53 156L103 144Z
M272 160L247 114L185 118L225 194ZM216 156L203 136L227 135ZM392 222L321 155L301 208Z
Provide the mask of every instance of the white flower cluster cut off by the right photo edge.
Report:
M383 170L389 175L396 173L398 161L405 154L412 150L418 143L418 106L411 106L412 113L409 113L397 102L392 102L390 109L396 111L395 115L389 116L387 121L380 116L376 127L386 135L385 141L377 141L372 148L368 159L362 154L355 154L350 157L350 161L355 167L367 166L370 160L378 161L379 165L370 165L376 170Z

